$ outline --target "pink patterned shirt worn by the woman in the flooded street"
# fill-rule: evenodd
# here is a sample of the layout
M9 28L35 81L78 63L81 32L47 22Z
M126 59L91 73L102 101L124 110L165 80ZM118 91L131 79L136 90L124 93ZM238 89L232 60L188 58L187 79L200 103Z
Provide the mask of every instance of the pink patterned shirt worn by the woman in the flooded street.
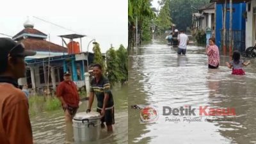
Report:
M210 45L206 50L208 58L208 64L217 67L220 63L220 52L217 45Z

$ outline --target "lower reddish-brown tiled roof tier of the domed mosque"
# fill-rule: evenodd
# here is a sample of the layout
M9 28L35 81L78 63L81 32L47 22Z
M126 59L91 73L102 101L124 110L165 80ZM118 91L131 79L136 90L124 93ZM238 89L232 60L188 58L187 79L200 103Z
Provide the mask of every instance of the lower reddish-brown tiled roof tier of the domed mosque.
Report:
M40 40L35 38L25 38L20 42L22 42L25 45L26 49L29 49L32 51L49 52L49 47L50 47L51 52L67 52L66 47L62 47L60 45L47 42L46 40Z

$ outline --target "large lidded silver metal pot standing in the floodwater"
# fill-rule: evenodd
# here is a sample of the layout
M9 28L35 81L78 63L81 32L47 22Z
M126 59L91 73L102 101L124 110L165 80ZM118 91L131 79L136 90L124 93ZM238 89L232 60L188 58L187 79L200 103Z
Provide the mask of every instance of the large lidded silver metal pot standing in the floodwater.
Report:
M99 140L100 137L100 113L77 113L73 118L74 141L76 143L84 141Z

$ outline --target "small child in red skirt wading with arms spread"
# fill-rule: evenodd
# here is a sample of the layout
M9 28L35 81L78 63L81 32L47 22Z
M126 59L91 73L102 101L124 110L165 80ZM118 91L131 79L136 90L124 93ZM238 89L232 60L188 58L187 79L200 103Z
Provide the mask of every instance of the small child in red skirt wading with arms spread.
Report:
M234 75L244 75L243 66L250 65L250 61L244 62L240 59L240 52L234 51L232 55L232 61L226 62L228 68L232 68L232 74Z

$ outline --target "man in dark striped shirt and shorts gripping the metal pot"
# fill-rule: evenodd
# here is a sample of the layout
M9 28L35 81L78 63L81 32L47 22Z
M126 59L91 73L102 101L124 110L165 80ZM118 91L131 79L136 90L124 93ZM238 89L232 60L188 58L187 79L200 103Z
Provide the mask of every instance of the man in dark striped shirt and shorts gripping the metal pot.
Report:
M90 113L94 95L97 97L97 112L102 116L101 127L104 128L106 122L108 132L113 131L112 125L115 124L114 100L110 90L109 80L102 76L102 66L95 64L93 66L93 79L91 81L90 99L86 113Z

